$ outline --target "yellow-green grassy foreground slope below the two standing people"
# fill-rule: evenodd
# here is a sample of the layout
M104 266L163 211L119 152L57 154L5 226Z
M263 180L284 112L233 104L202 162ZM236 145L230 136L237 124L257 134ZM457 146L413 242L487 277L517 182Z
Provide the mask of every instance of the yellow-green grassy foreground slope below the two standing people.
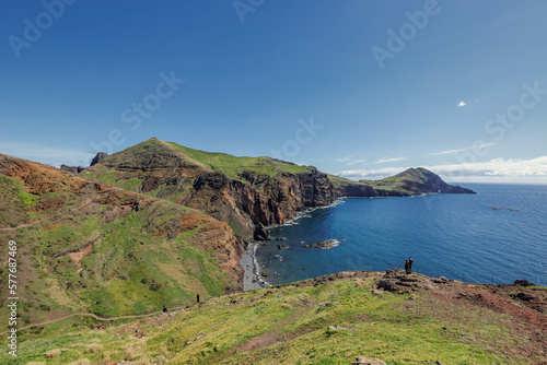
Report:
M78 323L68 322L65 328L57 323L57 332L21 333L20 340L27 341L22 342L14 364L78 360L81 364L108 360L148 364L161 358L172 358L170 364L350 364L360 355L392 365L540 360L509 353L508 346L533 340L511 331L512 319L505 315L442 302L430 292L415 293L416 298L408 301L410 294L374 293L372 285L372 278L358 278L264 289L238 293L233 296L235 303L228 296L211 298L200 307L112 325L104 331L77 331L69 326ZM335 304L319 307L323 302Z

